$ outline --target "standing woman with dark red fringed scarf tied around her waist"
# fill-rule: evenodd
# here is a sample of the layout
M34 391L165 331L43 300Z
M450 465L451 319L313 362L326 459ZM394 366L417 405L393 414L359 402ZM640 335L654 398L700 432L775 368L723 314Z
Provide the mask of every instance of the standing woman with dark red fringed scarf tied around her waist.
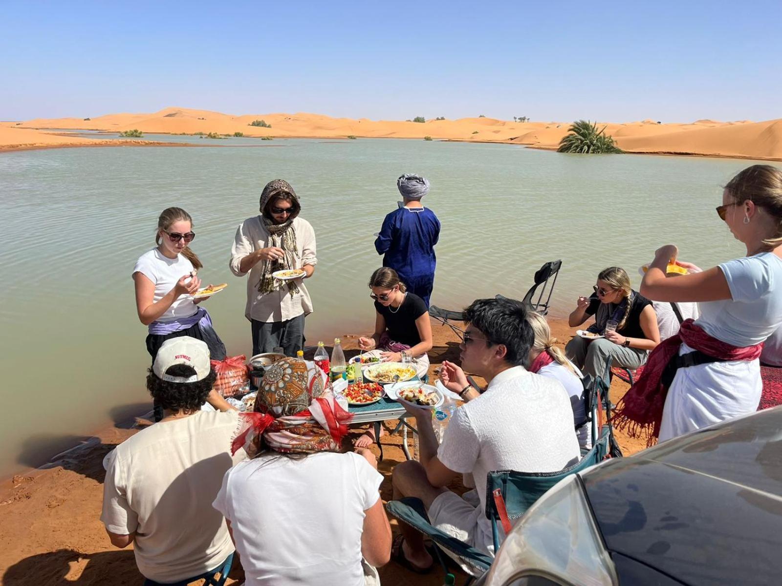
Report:
M650 443L758 408L758 358L782 325L782 170L753 165L738 173L725 186L717 214L746 256L666 279L665 267L679 255L666 245L641 283L655 301L698 302L701 311L652 352L644 375L622 399L619 423L647 433Z

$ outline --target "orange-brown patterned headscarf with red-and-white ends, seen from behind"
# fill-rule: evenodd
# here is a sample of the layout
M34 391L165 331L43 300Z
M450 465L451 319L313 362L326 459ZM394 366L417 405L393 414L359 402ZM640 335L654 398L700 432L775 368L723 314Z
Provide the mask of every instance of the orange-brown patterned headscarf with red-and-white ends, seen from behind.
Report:
M269 366L253 413L240 413L231 454L250 458L264 447L314 453L339 448L353 415L336 402L326 373L314 363L286 358Z

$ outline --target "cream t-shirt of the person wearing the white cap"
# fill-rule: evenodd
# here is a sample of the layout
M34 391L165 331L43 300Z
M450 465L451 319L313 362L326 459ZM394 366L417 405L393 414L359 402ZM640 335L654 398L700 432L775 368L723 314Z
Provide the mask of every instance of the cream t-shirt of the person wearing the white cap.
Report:
M112 533L134 531L138 570L177 582L219 566L234 551L212 501L231 457L236 411L199 412L155 423L106 456L101 520Z

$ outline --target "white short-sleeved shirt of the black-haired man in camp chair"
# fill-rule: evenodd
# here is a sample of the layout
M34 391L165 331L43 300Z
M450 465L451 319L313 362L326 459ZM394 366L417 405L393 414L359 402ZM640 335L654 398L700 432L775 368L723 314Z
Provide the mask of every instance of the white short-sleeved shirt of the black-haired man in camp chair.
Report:
M437 458L450 470L472 473L480 497L473 545L486 552L493 549L491 523L484 513L486 474L557 472L580 455L565 388L522 366L499 373L482 395L456 409L437 450Z

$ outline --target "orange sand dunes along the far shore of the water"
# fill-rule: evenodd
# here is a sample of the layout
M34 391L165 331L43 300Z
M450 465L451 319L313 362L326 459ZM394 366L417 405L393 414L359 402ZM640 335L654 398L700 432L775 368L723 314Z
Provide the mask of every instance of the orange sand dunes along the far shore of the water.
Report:
M271 127L253 127L264 120ZM782 119L766 122L739 120L693 123L658 123L641 120L630 123L604 123L620 148L631 153L701 155L745 159L782 160ZM427 120L416 123L399 120L331 118L320 114L244 114L233 116L209 110L167 108L149 114L108 114L91 119L34 119L21 123L0 123L0 150L51 148L53 146L95 145L88 138L59 136L37 129L83 129L115 133L138 129L149 134L234 134L274 138L411 138L432 140L500 142L532 148L555 149L567 134L569 122L518 123L494 118ZM210 146L223 146L210 141ZM110 141L111 145L147 144L145 141ZM36 147L35 145L38 145Z

